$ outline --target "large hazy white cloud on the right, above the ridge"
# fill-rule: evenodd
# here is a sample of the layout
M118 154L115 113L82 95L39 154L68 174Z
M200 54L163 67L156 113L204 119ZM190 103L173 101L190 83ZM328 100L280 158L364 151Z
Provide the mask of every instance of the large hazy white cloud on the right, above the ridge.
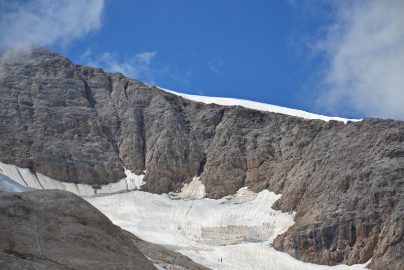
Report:
M404 119L404 1L338 1L336 21L316 44L326 53L331 113Z

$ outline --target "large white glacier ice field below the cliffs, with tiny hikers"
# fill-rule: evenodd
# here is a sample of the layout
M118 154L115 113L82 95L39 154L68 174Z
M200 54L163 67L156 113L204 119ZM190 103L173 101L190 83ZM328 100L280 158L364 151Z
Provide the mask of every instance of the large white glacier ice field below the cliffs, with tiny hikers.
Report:
M280 194L242 188L221 200L190 196L205 192L201 186L195 177L176 197L133 191L86 200L122 229L212 269L359 270L367 264L331 267L276 251L270 244L293 225L295 214L271 208Z

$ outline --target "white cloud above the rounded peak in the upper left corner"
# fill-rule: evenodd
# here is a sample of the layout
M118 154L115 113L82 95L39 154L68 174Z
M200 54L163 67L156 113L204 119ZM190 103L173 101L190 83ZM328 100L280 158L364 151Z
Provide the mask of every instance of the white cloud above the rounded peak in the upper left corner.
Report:
M104 0L0 0L0 49L15 43L66 46L98 30Z

